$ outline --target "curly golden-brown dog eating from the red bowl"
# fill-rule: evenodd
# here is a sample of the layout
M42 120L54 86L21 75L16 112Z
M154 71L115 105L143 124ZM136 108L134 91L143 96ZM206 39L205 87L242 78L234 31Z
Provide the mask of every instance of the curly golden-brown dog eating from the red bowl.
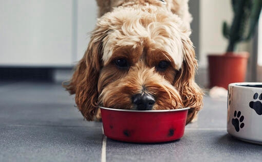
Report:
M99 18L84 57L63 83L86 120L99 106L128 110L190 107L196 119L203 92L195 83L188 0L97 0Z

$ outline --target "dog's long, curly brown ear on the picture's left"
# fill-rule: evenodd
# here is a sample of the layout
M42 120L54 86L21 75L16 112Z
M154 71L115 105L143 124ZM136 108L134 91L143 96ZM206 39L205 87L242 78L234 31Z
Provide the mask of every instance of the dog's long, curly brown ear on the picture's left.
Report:
M93 120L98 110L98 78L102 66L103 39L107 28L97 27L92 32L84 57L79 61L70 81L63 86L70 94L76 94L78 109L86 120Z

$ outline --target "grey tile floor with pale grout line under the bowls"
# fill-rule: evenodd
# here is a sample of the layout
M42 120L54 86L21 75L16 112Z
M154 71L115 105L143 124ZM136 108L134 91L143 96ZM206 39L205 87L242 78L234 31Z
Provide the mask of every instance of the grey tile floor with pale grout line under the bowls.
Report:
M152 144L105 138L61 84L0 82L0 103L0 161L262 161L262 146L228 135L226 98L205 96L181 139Z

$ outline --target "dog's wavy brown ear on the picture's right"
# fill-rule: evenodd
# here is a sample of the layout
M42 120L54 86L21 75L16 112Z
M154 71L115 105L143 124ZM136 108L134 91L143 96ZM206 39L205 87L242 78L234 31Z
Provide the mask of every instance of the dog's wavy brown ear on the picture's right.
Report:
M197 60L195 59L193 43L189 38L182 40L182 43L183 64L177 73L174 86L181 95L184 106L191 107L186 119L186 124L188 124L202 108L203 93L201 88L195 83Z

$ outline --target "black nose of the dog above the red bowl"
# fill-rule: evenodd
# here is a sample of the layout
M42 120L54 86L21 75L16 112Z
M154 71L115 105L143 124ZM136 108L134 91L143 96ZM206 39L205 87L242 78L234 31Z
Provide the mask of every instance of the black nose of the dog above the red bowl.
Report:
M132 97L137 110L152 110L155 104L155 98L149 94L136 94Z

